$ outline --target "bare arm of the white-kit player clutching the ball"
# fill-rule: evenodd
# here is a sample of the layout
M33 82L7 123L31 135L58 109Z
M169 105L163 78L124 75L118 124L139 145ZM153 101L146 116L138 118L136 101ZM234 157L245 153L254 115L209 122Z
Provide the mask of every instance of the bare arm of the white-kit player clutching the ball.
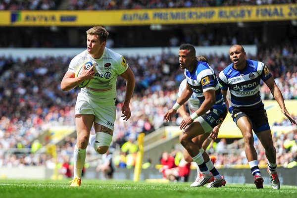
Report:
M94 79L94 76L94 65L89 70L86 70L86 68L84 68L81 74L76 78L74 72L67 71L61 81L61 89L64 92L70 91L78 86L78 84L80 84L82 81L87 79Z

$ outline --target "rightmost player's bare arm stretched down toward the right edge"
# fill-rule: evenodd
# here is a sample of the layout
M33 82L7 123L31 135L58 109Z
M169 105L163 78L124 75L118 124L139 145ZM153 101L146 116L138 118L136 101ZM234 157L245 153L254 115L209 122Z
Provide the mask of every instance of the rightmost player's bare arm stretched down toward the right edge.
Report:
M280 89L278 88L278 86L276 85L273 77L270 77L267 81L265 81L265 84L270 89L272 96L274 97L274 99L276 99L277 103L281 107L281 110L285 114L285 116L290 120L291 123L296 124L296 120L294 120L294 118L290 115L290 113L288 112L285 106L283 95Z

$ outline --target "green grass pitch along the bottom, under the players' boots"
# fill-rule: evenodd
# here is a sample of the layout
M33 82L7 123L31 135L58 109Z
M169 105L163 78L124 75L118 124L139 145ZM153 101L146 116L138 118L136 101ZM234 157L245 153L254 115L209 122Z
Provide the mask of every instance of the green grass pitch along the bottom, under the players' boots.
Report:
M191 183L146 183L82 180L79 188L68 180L0 180L1 198L294 198L297 186L273 190L264 185L227 184L222 188L190 187ZM206 185L205 185L206 186Z

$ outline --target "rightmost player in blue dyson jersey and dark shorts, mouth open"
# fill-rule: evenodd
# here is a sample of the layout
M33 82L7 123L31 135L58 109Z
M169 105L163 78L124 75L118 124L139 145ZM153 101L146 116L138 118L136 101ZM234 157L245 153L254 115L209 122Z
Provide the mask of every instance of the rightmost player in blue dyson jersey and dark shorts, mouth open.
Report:
M271 187L280 189L280 181L276 172L276 149L273 146L266 110L260 97L260 80L268 86L274 99L281 107L281 111L290 122L296 124L296 121L287 111L283 95L263 62L246 59L245 49L241 45L231 46L229 55L232 63L220 72L218 80L224 100L226 100L228 89L230 91L229 111L243 134L247 161L254 183L257 189L263 188L257 152L253 146L252 130L265 149Z

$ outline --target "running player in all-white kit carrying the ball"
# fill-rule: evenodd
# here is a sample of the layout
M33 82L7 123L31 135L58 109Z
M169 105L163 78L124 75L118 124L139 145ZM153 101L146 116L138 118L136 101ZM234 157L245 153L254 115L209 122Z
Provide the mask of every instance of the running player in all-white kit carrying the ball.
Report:
M74 176L70 186L80 186L82 170L86 159L86 148L89 143L90 131L94 124L96 135L90 143L99 154L104 154L112 141L116 115L116 80L120 75L126 80L126 95L122 104L122 117L131 117L129 107L135 78L124 57L105 47L108 32L101 26L87 31L87 49L76 55L70 62L68 71L62 82L62 91L70 91L84 80L92 79L88 87L82 88L75 105L75 125L77 143L74 148ZM85 68L78 77L77 70L85 62L93 66Z

